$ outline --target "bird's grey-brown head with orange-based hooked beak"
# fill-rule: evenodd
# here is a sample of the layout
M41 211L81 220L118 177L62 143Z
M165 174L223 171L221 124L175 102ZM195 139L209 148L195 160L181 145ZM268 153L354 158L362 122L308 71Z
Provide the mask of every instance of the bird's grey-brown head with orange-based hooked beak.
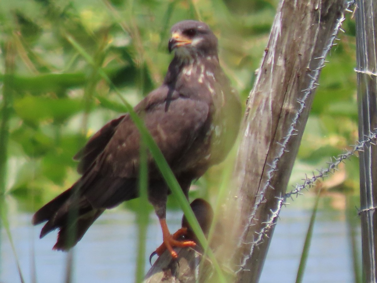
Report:
M185 20L176 23L171 29L169 52L175 50L178 57L194 55L216 56L217 38L210 28L202 22Z

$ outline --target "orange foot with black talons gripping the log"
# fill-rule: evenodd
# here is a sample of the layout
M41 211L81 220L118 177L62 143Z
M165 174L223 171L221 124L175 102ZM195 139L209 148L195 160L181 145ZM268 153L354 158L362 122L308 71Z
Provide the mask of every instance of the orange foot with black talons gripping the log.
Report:
M177 253L173 250L173 247L194 247L196 243L194 241L179 241L178 239L187 234L187 228L181 228L173 235L170 234L169 228L166 225L165 219L160 219L160 225L162 228L162 238L164 242L154 251L150 257L149 262L152 260L153 255L160 256L166 249L172 255L172 258L177 258Z

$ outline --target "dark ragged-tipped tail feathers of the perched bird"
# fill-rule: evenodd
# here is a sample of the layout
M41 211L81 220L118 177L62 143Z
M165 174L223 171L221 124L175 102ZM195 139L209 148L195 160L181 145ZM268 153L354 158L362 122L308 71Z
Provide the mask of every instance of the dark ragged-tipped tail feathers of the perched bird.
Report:
M35 212L32 223L47 221L40 238L59 229L53 249L67 250L81 240L106 208L137 197L135 184L134 179L105 178L98 176L97 171L88 171L71 188Z

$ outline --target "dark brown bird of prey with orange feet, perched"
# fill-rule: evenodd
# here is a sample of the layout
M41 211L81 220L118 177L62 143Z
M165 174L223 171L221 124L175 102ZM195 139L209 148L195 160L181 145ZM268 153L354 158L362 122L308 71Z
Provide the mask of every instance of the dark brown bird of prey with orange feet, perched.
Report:
M150 92L135 112L166 158L182 191L207 169L224 160L241 121L241 104L222 71L218 40L202 22L185 20L171 29L169 52L175 51L162 85ZM82 176L40 208L32 219L47 221L40 237L59 229L53 249L67 250L83 237L105 209L138 197L140 134L129 114L107 123L75 155ZM170 193L153 158L147 158L148 200L172 257L173 246L195 245L173 239L166 225Z

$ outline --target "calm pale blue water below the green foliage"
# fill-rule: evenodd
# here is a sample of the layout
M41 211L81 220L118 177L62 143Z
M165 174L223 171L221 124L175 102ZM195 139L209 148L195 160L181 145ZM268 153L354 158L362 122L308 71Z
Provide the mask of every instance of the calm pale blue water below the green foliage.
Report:
M305 197L301 198L302 200ZM308 208L303 208L304 206ZM284 208L262 272L261 282L294 282L305 234L311 215L311 201L297 200ZM171 231L180 226L181 212L170 211ZM354 211L356 217L356 209ZM64 282L66 257L52 251L56 233L38 239L40 226L30 224L31 214L12 212L9 217L12 239L26 283L32 282L36 266L37 282ZM14 253L5 231L1 231L0 282L20 282ZM135 214L116 209L102 215L74 249L74 282L133 282L136 258ZM356 230L361 253L360 229ZM147 257L161 243L162 235L155 215L150 215L147 232ZM146 269L149 263L146 262ZM344 210L320 209L305 269L304 282L353 282L349 225Z

